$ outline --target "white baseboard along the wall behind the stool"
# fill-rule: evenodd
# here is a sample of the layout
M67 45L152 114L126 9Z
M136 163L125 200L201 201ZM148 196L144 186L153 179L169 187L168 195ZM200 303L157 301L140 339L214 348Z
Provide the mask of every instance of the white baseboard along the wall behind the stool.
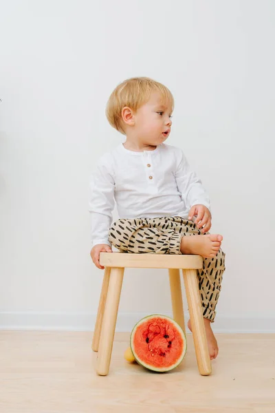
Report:
M116 331L130 332L133 326L149 315L148 313L119 313ZM171 314L166 313L169 317ZM188 313L185 315L188 320ZM0 312L0 330L66 330L93 331L96 323L95 313L35 313ZM217 315L212 324L214 332L223 333L275 333L275 317L234 318Z

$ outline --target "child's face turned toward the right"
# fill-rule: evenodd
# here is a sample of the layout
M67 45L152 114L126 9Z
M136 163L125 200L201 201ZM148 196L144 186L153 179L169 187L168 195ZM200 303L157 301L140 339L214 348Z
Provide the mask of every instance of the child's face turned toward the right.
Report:
M172 126L172 109L169 103L163 104L157 92L135 112L135 135L146 145L159 145L164 142Z

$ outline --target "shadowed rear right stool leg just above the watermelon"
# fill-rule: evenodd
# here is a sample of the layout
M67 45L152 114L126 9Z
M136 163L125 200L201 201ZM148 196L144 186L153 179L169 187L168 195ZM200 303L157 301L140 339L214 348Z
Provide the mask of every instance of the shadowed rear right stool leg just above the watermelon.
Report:
M181 281L178 269L169 268L169 282L173 308L173 319L177 321L182 330L184 330L184 333L186 333L184 323L184 304L182 302Z

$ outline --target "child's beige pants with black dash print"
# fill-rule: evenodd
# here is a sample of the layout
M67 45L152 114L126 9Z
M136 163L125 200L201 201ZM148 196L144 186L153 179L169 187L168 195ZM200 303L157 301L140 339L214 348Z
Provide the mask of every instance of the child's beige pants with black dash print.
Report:
M124 253L181 254L181 237L202 235L192 221L181 217L120 219L109 229L109 242ZM198 270L203 317L214 322L215 308L225 271L221 249L214 258L203 258Z

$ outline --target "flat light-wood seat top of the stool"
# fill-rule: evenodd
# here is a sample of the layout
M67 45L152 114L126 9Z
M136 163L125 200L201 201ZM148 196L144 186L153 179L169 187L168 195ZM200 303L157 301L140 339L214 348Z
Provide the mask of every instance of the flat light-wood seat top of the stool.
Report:
M100 253L100 265L117 268L202 268L200 255Z

